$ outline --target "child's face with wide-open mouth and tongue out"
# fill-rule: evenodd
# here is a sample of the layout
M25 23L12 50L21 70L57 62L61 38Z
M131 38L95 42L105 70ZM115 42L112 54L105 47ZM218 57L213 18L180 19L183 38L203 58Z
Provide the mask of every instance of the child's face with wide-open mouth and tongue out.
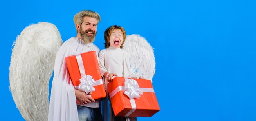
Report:
M120 29L114 29L112 33L110 33L109 44L111 47L120 48L123 41L124 41L124 37Z

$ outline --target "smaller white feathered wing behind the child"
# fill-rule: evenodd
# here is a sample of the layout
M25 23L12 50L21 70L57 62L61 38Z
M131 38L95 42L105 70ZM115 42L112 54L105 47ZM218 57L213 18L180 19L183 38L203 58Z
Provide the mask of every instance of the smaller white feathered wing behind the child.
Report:
M131 70L152 80L155 75L155 56L147 40L140 35L127 35L124 50L130 53Z

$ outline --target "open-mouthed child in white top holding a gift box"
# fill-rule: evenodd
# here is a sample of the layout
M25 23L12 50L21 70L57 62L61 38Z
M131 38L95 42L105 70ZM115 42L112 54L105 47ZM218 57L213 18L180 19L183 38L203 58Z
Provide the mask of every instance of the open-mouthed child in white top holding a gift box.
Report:
M104 39L106 49L99 53L99 68L101 76L105 77L105 84L112 82L113 76L145 79L130 70L130 56L122 50L126 39L126 32L123 27L117 25L108 27L104 33ZM112 113L112 106L110 113ZM110 121L114 121L112 116L110 114ZM136 117L115 117L115 121L127 121L128 119L137 121Z

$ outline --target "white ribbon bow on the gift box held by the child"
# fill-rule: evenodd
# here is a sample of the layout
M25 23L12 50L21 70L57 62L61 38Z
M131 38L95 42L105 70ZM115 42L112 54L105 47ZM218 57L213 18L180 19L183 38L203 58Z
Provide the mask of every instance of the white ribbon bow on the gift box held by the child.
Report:
M124 90L124 94L127 95L130 99L139 99L140 95L143 94L143 92L139 90L138 82L134 79L126 79L124 81Z

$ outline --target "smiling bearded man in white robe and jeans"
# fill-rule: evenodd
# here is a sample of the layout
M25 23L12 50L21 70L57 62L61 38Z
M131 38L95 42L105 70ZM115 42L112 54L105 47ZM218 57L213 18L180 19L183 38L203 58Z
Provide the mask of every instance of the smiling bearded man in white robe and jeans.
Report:
M48 121L102 121L100 101L74 88L65 61L67 56L87 51L99 54L92 42L100 20L98 13L88 10L74 16L77 35L65 41L56 54ZM76 100L83 106L76 105Z

